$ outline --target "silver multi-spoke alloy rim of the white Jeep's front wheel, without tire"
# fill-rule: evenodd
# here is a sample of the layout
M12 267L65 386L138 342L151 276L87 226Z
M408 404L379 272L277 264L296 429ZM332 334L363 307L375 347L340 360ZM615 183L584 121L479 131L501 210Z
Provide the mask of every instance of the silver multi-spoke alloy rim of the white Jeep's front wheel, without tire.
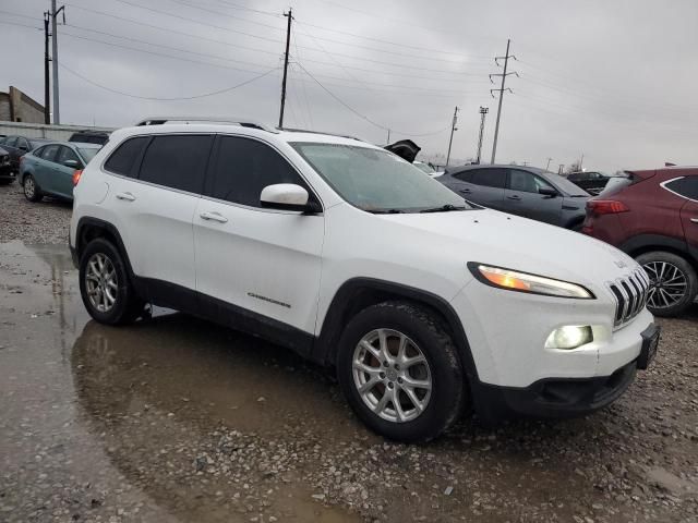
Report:
M426 357L397 330L374 329L361 338L353 352L352 375L365 405L389 422L416 419L431 399Z

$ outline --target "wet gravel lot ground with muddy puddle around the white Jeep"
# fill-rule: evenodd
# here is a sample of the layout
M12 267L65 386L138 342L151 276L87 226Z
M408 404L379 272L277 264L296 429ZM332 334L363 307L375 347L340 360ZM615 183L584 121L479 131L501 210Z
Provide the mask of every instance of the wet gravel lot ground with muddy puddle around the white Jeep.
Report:
M602 412L396 445L286 350L89 320L70 214L0 187L0 521L698 521L696 305Z

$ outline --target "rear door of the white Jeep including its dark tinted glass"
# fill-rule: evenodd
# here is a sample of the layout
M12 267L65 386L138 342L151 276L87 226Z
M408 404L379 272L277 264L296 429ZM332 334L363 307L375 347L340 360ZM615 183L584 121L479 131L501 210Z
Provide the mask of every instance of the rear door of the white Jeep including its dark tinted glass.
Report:
M133 137L105 162L106 206L115 211L129 259L158 305L195 311L192 218L213 136Z

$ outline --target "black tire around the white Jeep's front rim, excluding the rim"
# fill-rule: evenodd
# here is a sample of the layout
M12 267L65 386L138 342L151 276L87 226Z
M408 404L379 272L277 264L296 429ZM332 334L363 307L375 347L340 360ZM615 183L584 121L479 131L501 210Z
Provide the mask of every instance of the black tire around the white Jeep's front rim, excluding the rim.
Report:
M359 418L374 431L398 441L428 441L438 436L460 414L466 392L465 377L450 338L437 325L417 307L385 303L359 313L342 332L337 354L339 385ZM426 356L432 376L431 398L424 412L413 421L394 423L381 418L363 402L354 386L354 349L361 338L378 328L405 333Z

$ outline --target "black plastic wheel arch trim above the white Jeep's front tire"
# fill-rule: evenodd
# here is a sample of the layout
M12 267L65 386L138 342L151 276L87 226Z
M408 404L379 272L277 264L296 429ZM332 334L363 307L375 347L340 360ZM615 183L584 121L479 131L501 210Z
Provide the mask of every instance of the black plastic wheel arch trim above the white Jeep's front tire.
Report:
M344 326L364 308L387 301L408 301L436 317L452 336L468 380L470 384L479 381L462 324L446 300L429 291L374 278L352 278L337 290L325 314L312 358L322 365L334 366Z

